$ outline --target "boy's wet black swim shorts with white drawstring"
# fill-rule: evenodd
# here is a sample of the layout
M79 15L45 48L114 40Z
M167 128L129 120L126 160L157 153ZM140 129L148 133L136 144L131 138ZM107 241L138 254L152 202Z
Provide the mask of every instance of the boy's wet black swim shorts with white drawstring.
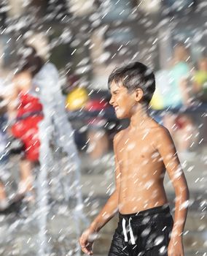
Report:
M173 217L168 205L120 214L108 256L168 256Z

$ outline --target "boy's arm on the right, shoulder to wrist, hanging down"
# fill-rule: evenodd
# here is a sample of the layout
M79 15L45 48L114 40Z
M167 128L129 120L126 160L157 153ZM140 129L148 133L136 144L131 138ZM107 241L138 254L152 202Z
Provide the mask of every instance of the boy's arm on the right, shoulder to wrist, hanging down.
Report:
M182 236L187 218L189 189L171 135L164 127L157 136L157 149L175 189L176 203L172 236L179 237Z

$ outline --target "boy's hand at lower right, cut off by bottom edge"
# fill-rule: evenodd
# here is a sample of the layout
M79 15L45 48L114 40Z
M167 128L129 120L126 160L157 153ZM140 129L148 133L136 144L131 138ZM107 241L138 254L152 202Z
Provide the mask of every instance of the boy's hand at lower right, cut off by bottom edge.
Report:
M168 256L184 256L182 237L172 237L168 245Z

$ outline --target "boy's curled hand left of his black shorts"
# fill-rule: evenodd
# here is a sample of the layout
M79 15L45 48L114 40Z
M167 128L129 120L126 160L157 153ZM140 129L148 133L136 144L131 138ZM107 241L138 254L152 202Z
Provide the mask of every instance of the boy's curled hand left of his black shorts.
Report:
M97 233L90 228L87 228L87 230L82 233L82 236L79 238L82 252L85 252L87 255L93 255L92 246L95 238L97 238Z

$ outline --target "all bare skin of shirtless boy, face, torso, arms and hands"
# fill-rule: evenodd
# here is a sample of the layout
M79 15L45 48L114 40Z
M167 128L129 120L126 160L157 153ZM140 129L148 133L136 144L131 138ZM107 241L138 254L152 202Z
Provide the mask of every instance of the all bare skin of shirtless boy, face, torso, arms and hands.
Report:
M171 135L147 113L141 89L129 93L122 84L112 81L110 90L112 98L109 103L117 118L130 118L130 125L114 137L116 188L100 214L79 238L82 251L93 254L93 234L118 211L133 214L168 203L163 186L166 169L176 193L168 256L184 255L182 232L187 207L182 206L189 199L189 190Z

